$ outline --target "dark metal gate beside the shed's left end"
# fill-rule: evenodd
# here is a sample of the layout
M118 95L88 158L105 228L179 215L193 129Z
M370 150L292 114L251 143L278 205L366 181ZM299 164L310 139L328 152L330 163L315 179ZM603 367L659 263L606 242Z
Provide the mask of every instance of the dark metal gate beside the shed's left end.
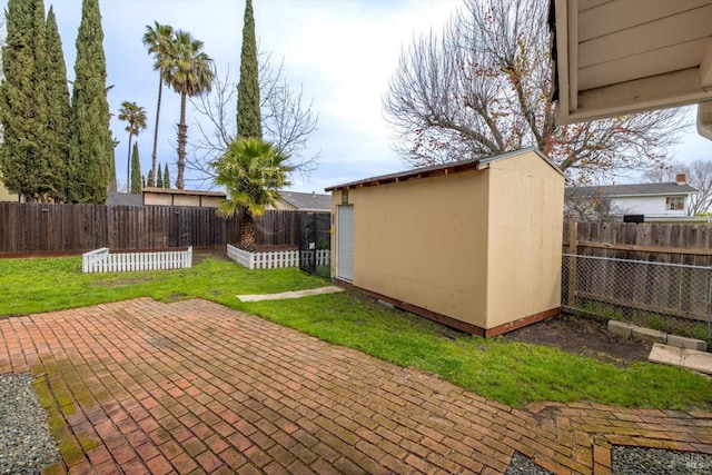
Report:
M332 214L305 212L299 218L299 268L332 277Z

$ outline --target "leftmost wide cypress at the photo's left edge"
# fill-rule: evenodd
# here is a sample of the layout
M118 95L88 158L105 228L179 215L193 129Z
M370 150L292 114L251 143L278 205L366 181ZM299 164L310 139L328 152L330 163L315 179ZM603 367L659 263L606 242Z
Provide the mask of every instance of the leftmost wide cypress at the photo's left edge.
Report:
M27 201L61 199L48 179L47 42L42 0L8 0L0 87L0 172Z

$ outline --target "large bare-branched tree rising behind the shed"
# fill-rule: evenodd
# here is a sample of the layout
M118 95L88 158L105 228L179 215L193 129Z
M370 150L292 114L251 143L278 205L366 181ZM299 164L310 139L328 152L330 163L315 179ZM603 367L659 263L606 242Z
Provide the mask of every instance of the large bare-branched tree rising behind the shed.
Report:
M556 127L548 0L466 0L442 34L404 49L384 98L412 166L544 151L580 182L663 164L685 126L676 109Z

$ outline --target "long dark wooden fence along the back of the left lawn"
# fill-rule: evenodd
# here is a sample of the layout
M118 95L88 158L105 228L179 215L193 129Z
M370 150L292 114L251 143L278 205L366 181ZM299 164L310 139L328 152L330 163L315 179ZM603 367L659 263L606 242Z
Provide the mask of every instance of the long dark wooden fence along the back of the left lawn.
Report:
M267 211L255 219L256 243L297 246L297 220L296 211ZM0 254L225 247L239 227L214 208L0 202Z

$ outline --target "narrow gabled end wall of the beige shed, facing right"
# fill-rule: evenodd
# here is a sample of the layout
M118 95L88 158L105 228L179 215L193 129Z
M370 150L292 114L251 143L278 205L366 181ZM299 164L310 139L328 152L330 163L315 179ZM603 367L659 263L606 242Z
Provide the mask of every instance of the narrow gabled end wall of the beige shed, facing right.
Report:
M561 306L564 178L535 152L490 164L487 326Z

